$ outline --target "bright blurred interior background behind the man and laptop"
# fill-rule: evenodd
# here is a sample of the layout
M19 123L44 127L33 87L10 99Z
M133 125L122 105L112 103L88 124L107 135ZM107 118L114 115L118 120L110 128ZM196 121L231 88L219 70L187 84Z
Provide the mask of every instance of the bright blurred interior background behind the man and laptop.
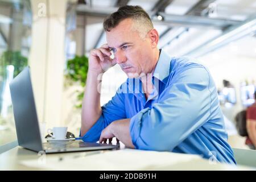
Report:
M123 5L147 11L159 48L208 67L229 143L247 148L235 117L254 102L254 0L0 0L0 145L16 139L9 82L27 65L43 134L65 125L78 137L89 51L106 43L103 20ZM118 65L105 73L101 105L125 80Z

